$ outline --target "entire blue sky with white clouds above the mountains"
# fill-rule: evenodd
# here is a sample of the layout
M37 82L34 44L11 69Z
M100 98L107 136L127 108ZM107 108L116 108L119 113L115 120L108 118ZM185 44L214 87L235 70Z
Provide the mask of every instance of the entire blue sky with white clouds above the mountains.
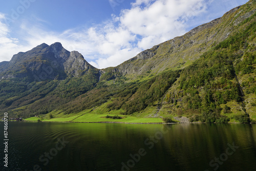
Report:
M61 42L98 69L208 23L248 0L12 0L0 3L0 62Z

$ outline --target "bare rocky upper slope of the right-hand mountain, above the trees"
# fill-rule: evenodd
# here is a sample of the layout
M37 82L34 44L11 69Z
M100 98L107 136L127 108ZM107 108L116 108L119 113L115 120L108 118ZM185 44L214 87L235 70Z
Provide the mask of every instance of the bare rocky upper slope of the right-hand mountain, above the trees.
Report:
M148 76L189 66L204 52L238 31L236 25L254 14L252 10L240 16L240 7L230 10L221 18L190 30L183 36L175 37L139 53L117 66L117 72L127 78L139 79L139 75Z

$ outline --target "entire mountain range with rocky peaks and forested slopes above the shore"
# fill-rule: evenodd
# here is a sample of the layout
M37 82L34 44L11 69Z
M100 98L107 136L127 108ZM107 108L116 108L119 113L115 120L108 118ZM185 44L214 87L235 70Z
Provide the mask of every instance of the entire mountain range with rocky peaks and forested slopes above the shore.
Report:
M99 112L253 122L255 5L251 0L117 67L96 69L59 42L20 52L0 62L0 110L72 121Z

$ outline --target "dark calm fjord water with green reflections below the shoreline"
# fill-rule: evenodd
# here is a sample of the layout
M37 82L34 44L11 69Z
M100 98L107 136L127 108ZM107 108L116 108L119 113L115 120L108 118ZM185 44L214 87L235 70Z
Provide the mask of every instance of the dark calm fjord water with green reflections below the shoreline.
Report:
M256 170L256 124L9 122L8 133L0 170Z

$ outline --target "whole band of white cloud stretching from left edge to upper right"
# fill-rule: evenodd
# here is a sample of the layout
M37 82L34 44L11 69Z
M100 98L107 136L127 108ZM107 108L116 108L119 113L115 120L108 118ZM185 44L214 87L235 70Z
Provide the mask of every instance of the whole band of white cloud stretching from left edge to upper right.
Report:
M47 31L40 23L23 23L19 39L10 38L10 28L1 23L5 16L0 14L0 45L4 47L0 61L10 60L18 50L59 41L67 50L79 51L97 68L117 66L142 50L184 34L186 22L205 12L206 7L204 0L137 0L131 9L122 10L119 16L113 14L111 20L89 29L57 33Z

